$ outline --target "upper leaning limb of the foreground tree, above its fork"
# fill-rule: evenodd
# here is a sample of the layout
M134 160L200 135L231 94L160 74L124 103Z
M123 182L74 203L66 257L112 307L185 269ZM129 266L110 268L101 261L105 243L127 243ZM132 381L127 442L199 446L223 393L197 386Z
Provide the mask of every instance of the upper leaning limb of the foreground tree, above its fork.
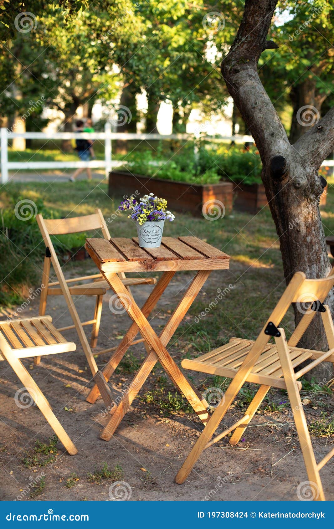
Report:
M277 0L246 0L242 21L221 66L229 93L255 139L263 162L268 153L288 154L284 127L257 73Z

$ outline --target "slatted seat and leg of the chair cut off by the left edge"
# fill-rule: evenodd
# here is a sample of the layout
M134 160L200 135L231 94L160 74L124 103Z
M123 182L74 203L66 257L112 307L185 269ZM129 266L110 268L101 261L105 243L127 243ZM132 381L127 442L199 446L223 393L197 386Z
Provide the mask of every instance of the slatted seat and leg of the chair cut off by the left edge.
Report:
M76 350L76 344L67 342L51 322L51 316L0 322L0 360L7 360L68 453L74 455L77 449L20 360Z

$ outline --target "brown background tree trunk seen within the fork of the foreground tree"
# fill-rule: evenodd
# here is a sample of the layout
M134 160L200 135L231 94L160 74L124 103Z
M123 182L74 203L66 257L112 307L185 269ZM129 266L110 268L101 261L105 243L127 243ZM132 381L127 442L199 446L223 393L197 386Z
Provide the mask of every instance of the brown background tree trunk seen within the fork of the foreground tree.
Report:
M317 78L313 75L298 85L294 85L290 92L293 104L291 129L289 141L295 143L318 123L321 114L321 105L327 94L317 93Z

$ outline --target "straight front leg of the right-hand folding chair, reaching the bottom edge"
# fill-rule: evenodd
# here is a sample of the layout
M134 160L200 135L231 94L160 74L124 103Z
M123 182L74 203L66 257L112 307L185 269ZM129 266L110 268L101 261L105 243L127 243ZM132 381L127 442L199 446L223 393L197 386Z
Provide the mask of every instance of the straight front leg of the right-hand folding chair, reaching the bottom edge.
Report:
M309 428L306 423L303 405L299 394L299 389L295 380L294 369L289 355L289 350L283 329L279 329L281 336L275 338L277 345L277 352L283 370L284 380L286 384L287 394L290 399L291 409L293 413L294 422L296 425L299 442L305 462L306 472L308 473L310 487L313 490L314 500L324 500L324 494L315 461L314 452L311 443Z

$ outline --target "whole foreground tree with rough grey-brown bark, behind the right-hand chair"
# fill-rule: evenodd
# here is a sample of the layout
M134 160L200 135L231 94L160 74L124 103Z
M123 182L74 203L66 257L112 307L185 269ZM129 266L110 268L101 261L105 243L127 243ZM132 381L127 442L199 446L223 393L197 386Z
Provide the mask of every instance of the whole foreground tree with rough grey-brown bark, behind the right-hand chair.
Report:
M293 145L257 73L277 0L246 0L240 28L222 62L222 75L260 153L262 180L283 258L288 283L297 270L306 277L327 276L331 270L319 211L326 180L318 169L334 147L334 108ZM326 303L334 310L333 290ZM295 307L295 322L302 314ZM320 315L300 344L326 351L328 344ZM317 369L317 368L316 368ZM330 380L332 364L323 362L311 374Z

